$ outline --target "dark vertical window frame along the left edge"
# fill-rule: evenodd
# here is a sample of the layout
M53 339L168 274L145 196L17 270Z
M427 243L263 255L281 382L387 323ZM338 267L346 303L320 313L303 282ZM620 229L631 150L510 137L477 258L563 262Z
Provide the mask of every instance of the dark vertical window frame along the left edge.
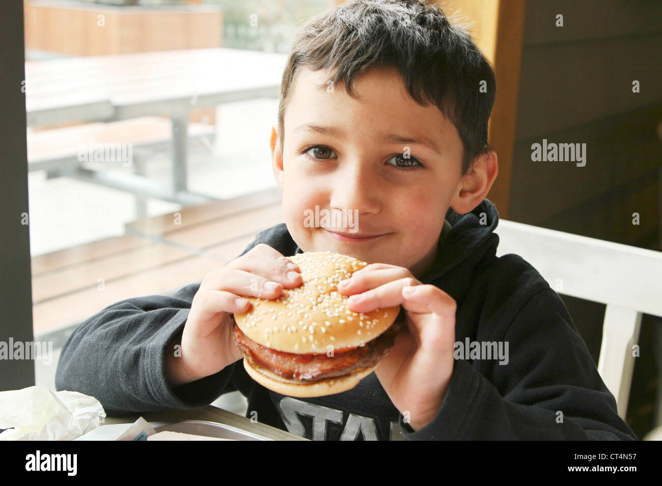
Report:
M32 341L30 233L25 141L23 2L0 14L0 341ZM29 220L28 220L29 221ZM34 385L32 360L0 360L0 391Z

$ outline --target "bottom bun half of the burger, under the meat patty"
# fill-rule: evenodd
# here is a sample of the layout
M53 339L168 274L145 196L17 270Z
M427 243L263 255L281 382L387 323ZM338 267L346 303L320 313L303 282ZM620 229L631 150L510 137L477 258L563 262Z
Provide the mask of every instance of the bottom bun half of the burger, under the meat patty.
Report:
M244 368L246 368L246 372L250 377L263 387L291 397L323 397L324 395L342 393L354 388L363 378L375 370L375 366L373 366L373 368L356 370L346 376L336 376L318 382L302 384L301 382L295 382L295 380L281 378L259 366L253 367L246 358L244 358Z

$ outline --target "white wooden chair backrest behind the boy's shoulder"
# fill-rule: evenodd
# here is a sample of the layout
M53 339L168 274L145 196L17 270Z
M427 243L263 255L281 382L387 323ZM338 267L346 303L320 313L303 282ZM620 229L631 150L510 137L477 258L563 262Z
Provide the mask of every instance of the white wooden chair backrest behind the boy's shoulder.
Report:
M662 252L499 220L498 256L520 255L558 294L606 304L598 372L625 419L643 313L662 317Z

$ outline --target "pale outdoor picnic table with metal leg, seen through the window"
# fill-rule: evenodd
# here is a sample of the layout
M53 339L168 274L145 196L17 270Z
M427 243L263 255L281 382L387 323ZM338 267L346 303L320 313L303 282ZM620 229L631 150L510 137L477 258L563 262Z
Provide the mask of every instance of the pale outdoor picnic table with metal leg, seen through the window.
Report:
M139 52L49 61L26 61L28 126L112 122L146 115L172 120L172 186L168 199L203 204L187 188L189 113L195 108L279 97L287 56L229 48ZM144 177L104 177L79 168L81 179L135 194L163 198ZM137 179L136 179L137 178Z

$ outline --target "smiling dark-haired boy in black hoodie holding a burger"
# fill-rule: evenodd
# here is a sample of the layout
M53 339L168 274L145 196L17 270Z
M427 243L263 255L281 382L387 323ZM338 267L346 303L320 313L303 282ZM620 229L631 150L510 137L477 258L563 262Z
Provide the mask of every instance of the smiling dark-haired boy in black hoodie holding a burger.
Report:
M416 0L344 3L299 30L281 90L271 151L286 223L201 284L85 321L62 350L58 389L97 397L109 415L203 407L238 389L250 416L314 440L398 429L414 440L636 439L559 296L520 257L495 257L495 78L465 32ZM316 206L354 214L355 226L310 227ZM301 285L287 256L329 250L371 264L338 286L358 297L350 309L401 304L406 329L354 389L269 391L238 362L232 313L250 309L242 296ZM474 342L505 354L461 351Z

